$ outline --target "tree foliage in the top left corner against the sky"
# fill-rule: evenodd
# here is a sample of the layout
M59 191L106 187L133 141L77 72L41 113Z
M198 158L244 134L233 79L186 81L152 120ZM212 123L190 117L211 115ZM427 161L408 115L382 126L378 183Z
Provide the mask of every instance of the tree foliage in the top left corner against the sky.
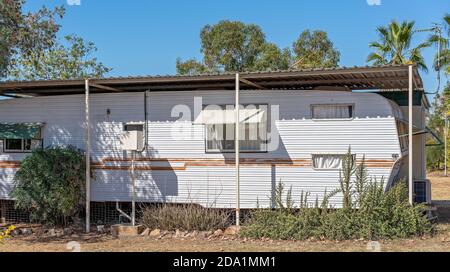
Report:
M0 78L5 77L11 62L18 56L41 52L54 45L64 8L42 7L24 13L25 0L0 1Z

